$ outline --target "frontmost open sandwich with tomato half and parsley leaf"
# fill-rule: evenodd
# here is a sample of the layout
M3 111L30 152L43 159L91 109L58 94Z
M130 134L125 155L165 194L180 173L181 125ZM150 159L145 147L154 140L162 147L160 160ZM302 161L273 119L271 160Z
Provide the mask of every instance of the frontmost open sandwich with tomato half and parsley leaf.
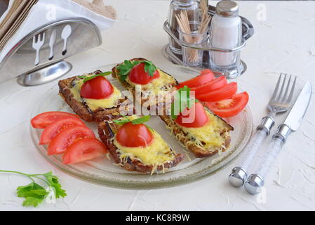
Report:
M114 161L128 171L154 173L175 167L184 158L168 146L154 129L144 124L149 116L127 116L100 122L100 139Z

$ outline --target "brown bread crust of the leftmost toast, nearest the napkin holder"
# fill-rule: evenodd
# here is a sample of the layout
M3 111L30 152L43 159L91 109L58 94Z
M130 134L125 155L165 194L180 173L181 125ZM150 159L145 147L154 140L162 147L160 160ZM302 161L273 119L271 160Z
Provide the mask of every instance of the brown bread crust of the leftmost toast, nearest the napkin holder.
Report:
M89 75L100 74L100 73L102 73L102 71L97 70L93 73L90 73ZM79 115L79 117L82 120L85 120L87 122L100 122L103 120L114 120L120 117L119 107L121 106L121 103L123 103L124 101L128 101L126 98L121 98L119 100L119 104L116 107L93 111L90 108L88 108L88 105L86 105L85 103L76 101L76 99L74 99L74 96L72 95L70 91L74 80L77 78L78 78L77 76L69 77L67 79L62 79L58 82L60 96L72 108L72 110L74 110L74 113ZM130 103L128 105L130 107L130 105L132 104ZM127 109L127 106L126 106L125 109L134 111L133 107L132 108L130 107Z

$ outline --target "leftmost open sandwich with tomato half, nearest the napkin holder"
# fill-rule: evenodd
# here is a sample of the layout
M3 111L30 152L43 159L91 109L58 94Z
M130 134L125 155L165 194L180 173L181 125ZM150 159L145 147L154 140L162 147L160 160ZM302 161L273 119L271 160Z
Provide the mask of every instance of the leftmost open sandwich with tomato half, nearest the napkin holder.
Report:
M119 108L127 101L121 91L112 85L100 70L59 81L59 94L74 113L87 122L100 122L120 117ZM123 110L133 110L132 104L124 104Z

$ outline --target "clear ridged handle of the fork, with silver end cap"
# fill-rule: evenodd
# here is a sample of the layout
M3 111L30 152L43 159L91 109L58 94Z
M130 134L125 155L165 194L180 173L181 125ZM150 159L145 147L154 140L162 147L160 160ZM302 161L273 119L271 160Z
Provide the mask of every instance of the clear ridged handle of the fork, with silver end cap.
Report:
M247 171L250 163L253 161L257 150L262 146L262 142L266 140L270 134L270 129L274 126L274 119L272 117L264 117L262 123L257 127L257 131L250 139L250 142L241 153L241 161L239 167L234 167L232 173L229 174L229 184L238 188L243 186L247 179Z

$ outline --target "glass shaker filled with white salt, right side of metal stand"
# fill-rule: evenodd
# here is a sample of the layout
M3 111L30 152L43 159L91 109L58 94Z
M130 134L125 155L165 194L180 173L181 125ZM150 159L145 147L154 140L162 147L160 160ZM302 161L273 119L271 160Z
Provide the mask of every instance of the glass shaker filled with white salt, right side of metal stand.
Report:
M218 49L234 49L241 45L242 22L239 17L239 6L234 1L224 0L217 3L215 15L210 25L210 47ZM240 73L240 51L210 52L210 68L217 72L231 72L235 78ZM226 73L224 73L226 74Z

